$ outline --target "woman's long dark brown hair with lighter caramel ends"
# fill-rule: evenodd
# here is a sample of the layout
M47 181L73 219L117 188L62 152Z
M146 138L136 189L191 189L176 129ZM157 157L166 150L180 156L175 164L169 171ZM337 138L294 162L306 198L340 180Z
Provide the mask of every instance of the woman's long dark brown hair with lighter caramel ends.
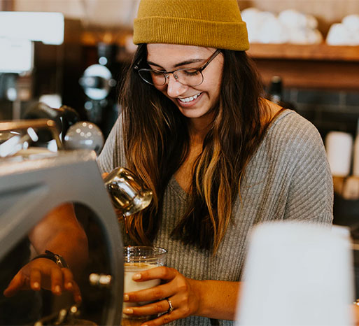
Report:
M260 79L246 52L223 50L224 64L215 118L193 167L188 208L172 236L216 253L230 224L241 178L269 124ZM172 101L141 80L146 66L139 45L120 92L127 166L153 190L153 203L127 218L129 236L150 244L161 220L164 190L188 155L188 120ZM265 123L263 123L265 122Z

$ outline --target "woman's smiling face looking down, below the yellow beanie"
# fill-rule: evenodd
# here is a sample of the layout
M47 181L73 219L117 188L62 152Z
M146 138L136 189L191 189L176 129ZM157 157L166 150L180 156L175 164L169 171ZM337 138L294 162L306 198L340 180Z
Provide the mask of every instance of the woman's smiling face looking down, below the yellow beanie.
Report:
M213 48L171 44L148 44L147 50L150 68L161 71L202 67L216 51ZM222 71L223 55L219 54L202 71L202 84L195 87L183 85L170 73L166 84L154 87L171 99L185 117L206 120L219 99Z

